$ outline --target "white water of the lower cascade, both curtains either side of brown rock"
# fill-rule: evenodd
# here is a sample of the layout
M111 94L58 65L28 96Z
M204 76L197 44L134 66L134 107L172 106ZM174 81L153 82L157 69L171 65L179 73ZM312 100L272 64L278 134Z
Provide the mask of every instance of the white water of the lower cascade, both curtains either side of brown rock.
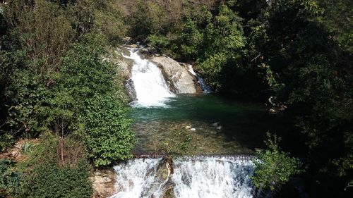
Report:
M162 197L165 180L155 173L161 159L133 159L115 166L117 194L111 198ZM177 198L250 198L251 159L241 156L198 156L174 160Z

